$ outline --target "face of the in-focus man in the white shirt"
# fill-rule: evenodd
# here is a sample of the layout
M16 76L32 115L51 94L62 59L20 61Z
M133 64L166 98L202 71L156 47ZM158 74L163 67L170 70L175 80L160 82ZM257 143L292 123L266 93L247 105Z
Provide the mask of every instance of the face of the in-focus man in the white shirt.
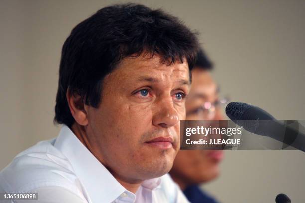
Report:
M188 64L160 57L124 59L103 82L101 103L89 107L86 131L95 156L121 180L167 173L179 150L179 120L190 89Z

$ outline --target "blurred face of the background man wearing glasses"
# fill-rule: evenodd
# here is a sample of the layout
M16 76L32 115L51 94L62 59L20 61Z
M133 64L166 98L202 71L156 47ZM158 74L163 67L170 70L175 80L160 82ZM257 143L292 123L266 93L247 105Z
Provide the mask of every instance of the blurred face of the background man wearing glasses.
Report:
M218 101L218 88L210 72L195 68L192 71L192 87L186 100L186 120L222 120L219 107L208 112L203 105ZM216 178L222 151L187 150L180 151L174 161L172 173L189 181L189 184L202 183Z

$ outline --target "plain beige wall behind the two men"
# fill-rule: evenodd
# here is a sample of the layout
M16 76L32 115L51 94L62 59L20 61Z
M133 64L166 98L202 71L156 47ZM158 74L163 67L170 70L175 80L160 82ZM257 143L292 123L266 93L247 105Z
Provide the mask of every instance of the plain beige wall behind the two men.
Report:
M0 0L0 169L53 125L58 66L71 29L114 2ZM198 30L223 95L278 119L305 120L305 1L133 1L163 8ZM305 202L305 154L227 151L222 174L204 186L224 203Z

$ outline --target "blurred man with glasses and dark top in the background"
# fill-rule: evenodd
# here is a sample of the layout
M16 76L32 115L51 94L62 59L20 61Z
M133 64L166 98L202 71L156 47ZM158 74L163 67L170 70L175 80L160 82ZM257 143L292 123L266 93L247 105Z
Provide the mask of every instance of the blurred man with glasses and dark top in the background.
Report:
M185 102L186 120L223 119L219 106L225 101L219 99L219 88L210 74L212 68L212 63L201 49L192 69L192 87ZM191 203L216 203L198 185L219 175L222 158L223 151L217 150L179 151L170 175Z

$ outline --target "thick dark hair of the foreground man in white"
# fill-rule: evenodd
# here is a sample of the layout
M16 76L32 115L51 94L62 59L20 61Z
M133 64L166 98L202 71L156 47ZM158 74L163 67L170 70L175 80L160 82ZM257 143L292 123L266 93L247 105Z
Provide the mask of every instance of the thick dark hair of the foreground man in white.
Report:
M139 4L118 4L98 10L79 23L62 47L54 123L75 122L66 93L78 94L98 107L102 81L125 57L158 54L171 65L185 58L193 67L196 34L176 17Z

